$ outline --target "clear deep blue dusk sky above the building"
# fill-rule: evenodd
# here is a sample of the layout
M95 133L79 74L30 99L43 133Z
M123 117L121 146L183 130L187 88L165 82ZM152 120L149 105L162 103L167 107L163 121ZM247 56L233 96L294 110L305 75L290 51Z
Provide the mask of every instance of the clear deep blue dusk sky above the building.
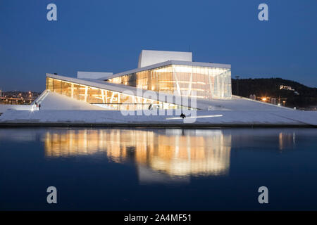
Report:
M46 19L50 3L57 21ZM43 91L46 73L123 72L142 49L189 46L194 61L231 64L232 77L316 87L316 9L316 0L0 0L0 89Z

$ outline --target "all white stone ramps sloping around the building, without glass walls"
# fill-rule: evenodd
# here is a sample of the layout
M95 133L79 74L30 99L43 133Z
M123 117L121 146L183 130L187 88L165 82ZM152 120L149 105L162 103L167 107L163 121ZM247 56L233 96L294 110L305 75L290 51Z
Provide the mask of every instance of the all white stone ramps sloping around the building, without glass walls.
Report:
M185 120L169 120L171 117L180 116L180 112L175 110L161 110L162 112L140 110L132 111L130 112L132 115L127 116L125 114L129 114L128 111L105 110L97 105L91 105L51 91L44 93L37 101L41 103L41 110L6 110L0 117L0 125L317 126L316 111L292 110L236 97L229 101L214 100L208 102L220 110L189 110L185 113L187 115ZM157 115L155 115L156 113ZM194 120L191 117L194 117Z

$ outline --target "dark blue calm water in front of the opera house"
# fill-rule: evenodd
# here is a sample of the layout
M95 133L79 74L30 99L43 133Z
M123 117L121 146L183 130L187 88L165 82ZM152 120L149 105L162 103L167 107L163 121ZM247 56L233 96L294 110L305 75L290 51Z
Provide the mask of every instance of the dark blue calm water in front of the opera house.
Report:
M317 210L317 129L0 129L0 210ZM58 204L46 203L56 186ZM269 204L258 203L268 187Z

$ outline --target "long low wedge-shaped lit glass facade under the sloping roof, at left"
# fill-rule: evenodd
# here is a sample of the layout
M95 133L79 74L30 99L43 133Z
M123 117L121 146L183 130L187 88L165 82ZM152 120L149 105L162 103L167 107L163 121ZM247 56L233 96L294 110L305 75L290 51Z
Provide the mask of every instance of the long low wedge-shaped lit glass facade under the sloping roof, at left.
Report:
M46 90L111 110L144 110L148 109L150 105L159 109L182 108L180 105L154 101L149 98L99 89L97 87L67 82L51 77L46 77Z

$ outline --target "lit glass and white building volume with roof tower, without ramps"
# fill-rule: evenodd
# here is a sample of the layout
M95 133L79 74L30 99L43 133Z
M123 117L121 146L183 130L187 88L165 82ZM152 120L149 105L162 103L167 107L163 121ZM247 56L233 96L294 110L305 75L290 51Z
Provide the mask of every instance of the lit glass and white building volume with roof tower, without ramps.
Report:
M177 96L232 98L228 64L192 62L191 52L142 50L138 65L114 75L77 72L77 78L72 78L47 74L46 90L113 110L197 108L177 103Z

